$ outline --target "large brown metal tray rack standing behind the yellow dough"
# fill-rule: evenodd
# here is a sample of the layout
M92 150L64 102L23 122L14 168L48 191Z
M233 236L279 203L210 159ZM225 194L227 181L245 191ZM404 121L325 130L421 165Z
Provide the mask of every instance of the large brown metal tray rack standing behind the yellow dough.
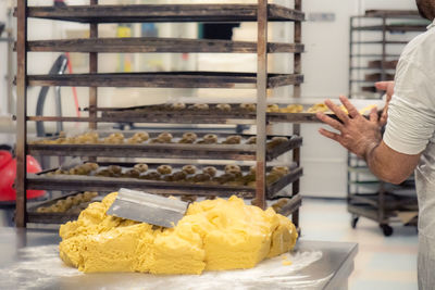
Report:
M271 198L268 192L271 188L265 182L266 162L287 151L293 152L293 166L289 175L284 176L275 185L272 191L277 191L293 184L290 199L283 213L293 215L293 222L299 225L300 205L299 177L300 168L300 126L294 125L293 135L284 147L268 151L266 148L266 124L272 115L266 115L266 90L279 86L293 86L293 97L301 94L300 84L303 81L301 75L301 22L304 14L301 12L301 0L295 1L294 8L285 8L277 4L269 4L266 0L259 0L257 4L161 4L161 5L100 5L98 0L90 0L88 5L71 7L28 7L27 1L18 1L15 11L17 17L17 181L16 181L16 225L25 227L26 223L48 220L44 214L28 214L26 211L27 189L58 189L75 190L92 188L101 190L116 190L120 182L141 189L159 189L158 193L167 192L167 184L164 181L147 182L144 180L98 180L94 177L80 176L44 176L26 174L25 156L27 153L40 155L78 155L87 156L98 162L101 156L129 156L153 155L171 156L178 159L202 159L213 156L214 159L227 160L254 160L257 162L256 189L246 189L253 196L254 203L265 207L265 199ZM29 17L52 21L69 21L89 24L90 35L86 39L60 39L60 40L28 40L27 20ZM178 39L178 38L99 38L98 25L102 23L149 23L149 22L257 22L258 41L225 41L203 39ZM293 22L294 43L268 42L268 22ZM89 54L88 74L66 75L28 75L28 52L82 52ZM98 55L107 52L241 52L257 53L257 73L222 73L222 72L140 72L140 73L99 73ZM291 53L294 67L291 74L272 74L268 72L269 53ZM84 86L89 87L88 116L84 117L59 117L59 116L33 116L27 114L27 87L28 86ZM147 87L147 88L256 88L257 109L254 114L249 115L251 124L257 126L257 142L254 146L240 147L190 147L183 144L158 144L158 146L103 146L103 144L34 144L27 142L26 126L28 122L35 121L60 121L60 122L87 122L89 129L98 129L100 123L112 122L140 122L144 118L135 116L109 117L101 114L98 106L99 87ZM313 114L277 114L276 122L313 122ZM224 118L221 118L224 119ZM160 119L162 122L162 119ZM178 123L179 118L169 117L163 123ZM210 123L210 121L190 119L192 123ZM195 154L192 153L195 151ZM219 152L219 153L216 153ZM198 155L197 155L198 154ZM248 156L248 157L247 157ZM128 178L127 178L128 179ZM188 186L191 190L175 190L170 186L174 194L200 194L198 191L211 190L207 186ZM181 186L186 188L186 186ZM244 189L222 187L213 191L215 194L227 196L228 192L239 192ZM269 190L269 191L268 191ZM203 192L203 191L202 191ZM226 193L225 193L226 192ZM207 196L207 194L206 194ZM51 219L52 220L52 219Z

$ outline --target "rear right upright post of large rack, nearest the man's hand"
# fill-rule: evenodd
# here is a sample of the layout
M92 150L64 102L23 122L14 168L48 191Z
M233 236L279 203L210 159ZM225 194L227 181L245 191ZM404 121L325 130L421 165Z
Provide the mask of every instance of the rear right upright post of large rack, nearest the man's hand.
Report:
M302 0L295 0L295 10L297 11L302 11ZM302 23L301 22L295 22L295 27L294 27L294 34L295 34L295 43L302 43ZM301 53L295 53L294 54L294 74L301 74L302 72L302 62L301 62ZM293 98L300 98L301 97L301 87L300 85L294 85L293 87ZM300 125L299 124L294 124L293 125L293 134L300 136ZM296 162L298 165L300 165L300 148L296 148L293 151L293 161ZM299 179L293 182L291 185L291 194L298 194L299 193L299 186L300 181ZM295 224L296 228L299 227L299 210L295 211L294 214L291 215L291 220Z

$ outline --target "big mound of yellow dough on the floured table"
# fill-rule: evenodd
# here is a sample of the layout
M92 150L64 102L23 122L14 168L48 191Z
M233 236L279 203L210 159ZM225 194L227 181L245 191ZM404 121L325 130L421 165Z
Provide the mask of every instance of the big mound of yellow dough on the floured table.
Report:
M291 250L297 231L273 209L246 205L233 196L195 202L171 229L109 216L116 192L61 226L60 256L85 273L201 274L251 268Z

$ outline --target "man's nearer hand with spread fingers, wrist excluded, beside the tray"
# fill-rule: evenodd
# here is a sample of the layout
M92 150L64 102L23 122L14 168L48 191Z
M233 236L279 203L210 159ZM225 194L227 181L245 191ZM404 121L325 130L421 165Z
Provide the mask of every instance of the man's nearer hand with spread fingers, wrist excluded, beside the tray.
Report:
M324 113L316 113L319 119L338 130L339 134L323 128L319 133L339 142L347 150L365 160L382 140L376 108L372 109L370 119L366 119L346 97L340 96L339 99L349 114L346 114L331 100L326 100L325 104L337 115L341 123L326 116Z

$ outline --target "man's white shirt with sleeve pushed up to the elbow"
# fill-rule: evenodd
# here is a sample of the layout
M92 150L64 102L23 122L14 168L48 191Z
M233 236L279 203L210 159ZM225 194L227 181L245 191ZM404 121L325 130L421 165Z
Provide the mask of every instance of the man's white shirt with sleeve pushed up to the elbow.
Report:
M435 21L403 49L395 81L384 142L400 153L423 152L415 168L419 232L435 241Z

